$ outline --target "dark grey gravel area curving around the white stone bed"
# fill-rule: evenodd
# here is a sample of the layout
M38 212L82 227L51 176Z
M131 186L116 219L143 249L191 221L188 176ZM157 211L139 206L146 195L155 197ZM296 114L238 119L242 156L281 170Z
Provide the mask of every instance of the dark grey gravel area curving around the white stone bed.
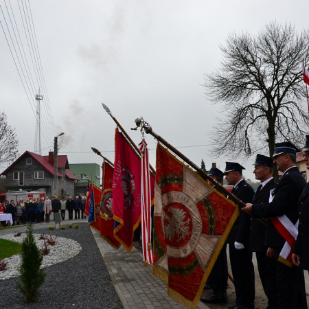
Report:
M79 223L78 229L43 229L34 233L71 238L81 245L82 251L44 268L47 277L37 303L21 303L20 293L15 288L17 277L0 280L0 308L123 308L87 223Z

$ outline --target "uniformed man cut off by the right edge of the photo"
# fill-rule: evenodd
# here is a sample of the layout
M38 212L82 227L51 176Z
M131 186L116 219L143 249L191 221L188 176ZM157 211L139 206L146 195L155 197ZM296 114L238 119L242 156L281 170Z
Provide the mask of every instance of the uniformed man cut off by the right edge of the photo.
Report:
M309 170L309 135L306 135L306 145L301 152ZM299 225L298 235L292 255L293 263L309 271L309 183L304 188L298 200Z

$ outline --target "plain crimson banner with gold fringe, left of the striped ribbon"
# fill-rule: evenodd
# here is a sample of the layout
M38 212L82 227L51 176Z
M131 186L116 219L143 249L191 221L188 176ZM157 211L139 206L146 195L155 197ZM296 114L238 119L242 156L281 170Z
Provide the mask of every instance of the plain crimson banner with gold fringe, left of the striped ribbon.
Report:
M131 251L141 221L141 158L117 128L112 192L114 237Z

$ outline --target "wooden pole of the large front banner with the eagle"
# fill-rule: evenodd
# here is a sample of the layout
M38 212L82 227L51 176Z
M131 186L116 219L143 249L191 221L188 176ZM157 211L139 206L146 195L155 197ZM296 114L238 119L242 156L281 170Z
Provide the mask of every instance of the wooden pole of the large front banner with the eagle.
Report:
M227 194L227 196L229 196L229 198L231 199L231 201L233 201L234 203L236 203L237 205L239 205L240 207L244 207L246 206L245 203L243 203L242 201L240 201L239 198L237 198L235 195L231 194L231 192L229 192L229 190L227 190L225 187L223 187L220 183L218 183L218 181L216 181L215 179L212 179L210 176L207 175L206 172L204 172L201 168L198 167L198 165L194 164L190 159L188 159L187 157L185 157L185 155L183 155L181 152L179 152L179 150L176 150L176 148L174 148L174 146L172 146L171 144L168 143L168 141L165 141L165 139L163 139L161 136L157 135L157 133L155 133L151 126L146 126L145 127L145 132L147 134L152 135L153 137L155 137L155 139L157 139L157 141L159 141L161 144L163 144L165 147L167 147L168 149L172 150L172 152L174 152L175 155L177 155L179 158L181 158L183 161L185 161L185 163L189 164L192 168L194 168L194 170L196 170L198 172L198 174L200 174L201 176L203 176L203 178L211 181L211 183L214 183L214 185L216 185L217 187L220 188L220 190L222 190L222 192L224 192L225 194Z

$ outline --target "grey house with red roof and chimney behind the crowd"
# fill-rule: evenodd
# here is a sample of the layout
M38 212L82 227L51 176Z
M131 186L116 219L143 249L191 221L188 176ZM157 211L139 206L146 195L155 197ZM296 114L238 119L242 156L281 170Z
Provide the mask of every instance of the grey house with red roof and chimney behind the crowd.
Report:
M47 156L25 151L1 175L6 176L7 190L45 189L52 196L54 189L54 152ZM58 155L58 196L73 196L78 178L70 172L66 155Z

